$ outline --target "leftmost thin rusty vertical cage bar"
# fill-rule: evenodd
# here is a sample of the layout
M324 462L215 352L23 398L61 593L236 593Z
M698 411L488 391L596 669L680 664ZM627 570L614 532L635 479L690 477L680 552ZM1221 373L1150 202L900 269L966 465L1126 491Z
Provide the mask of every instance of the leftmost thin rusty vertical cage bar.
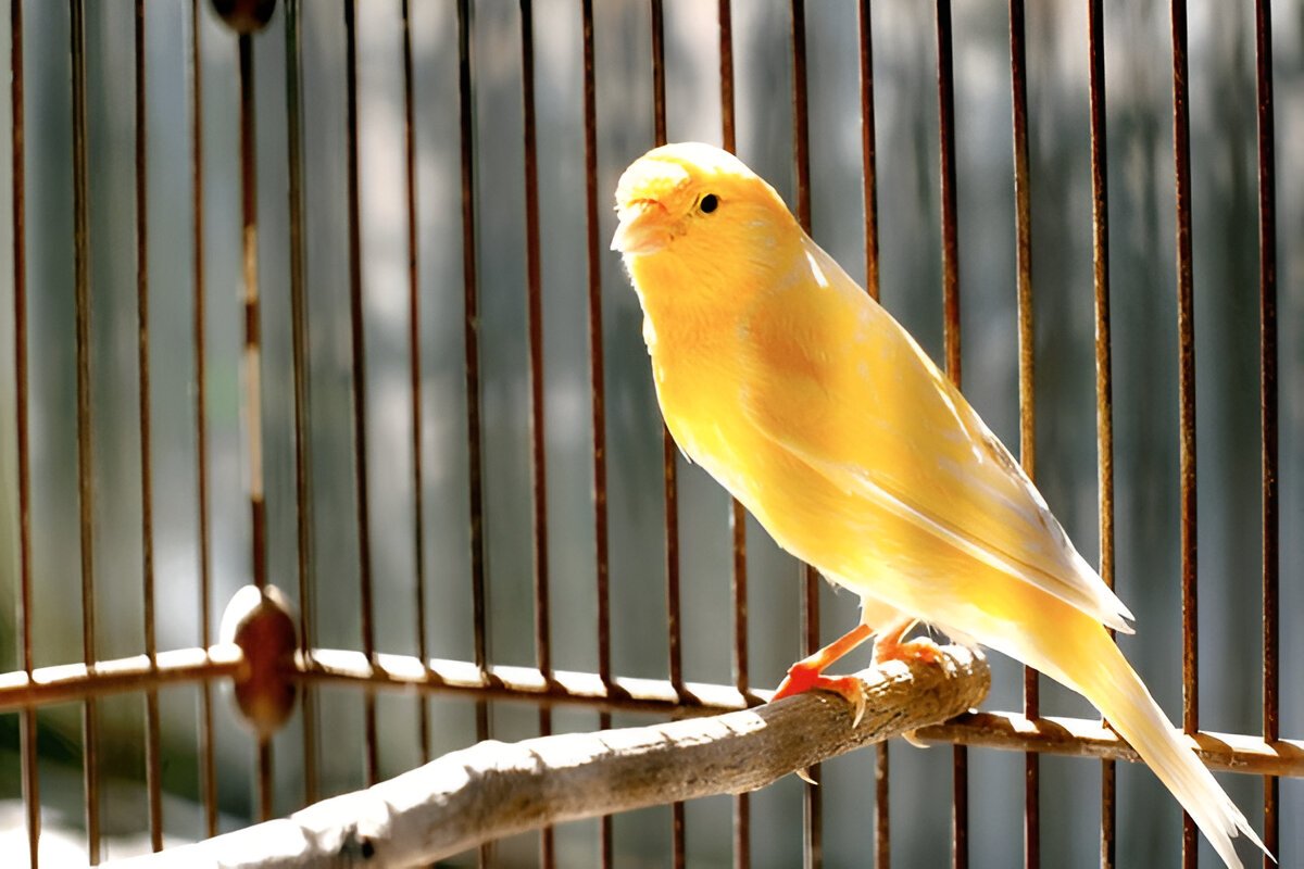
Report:
M18 446L18 618L22 668L31 674L31 442L27 434L27 159L22 72L22 1L9 4L9 106L13 159L13 371L14 427ZM37 710L20 719L22 804L27 825L27 865L39 864L40 769L37 752Z

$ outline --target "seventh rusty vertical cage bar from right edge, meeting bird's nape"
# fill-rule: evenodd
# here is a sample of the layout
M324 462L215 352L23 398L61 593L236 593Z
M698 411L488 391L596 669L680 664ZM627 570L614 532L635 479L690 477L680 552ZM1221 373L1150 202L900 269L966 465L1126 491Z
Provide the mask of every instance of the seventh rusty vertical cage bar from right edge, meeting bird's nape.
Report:
M797 168L797 221L811 231L810 103L806 85L806 0L792 0L793 29L793 162ZM801 565L802 657L819 649L819 572ZM819 766L810 770L819 780ZM824 862L823 793L814 784L802 788L802 861L806 869Z

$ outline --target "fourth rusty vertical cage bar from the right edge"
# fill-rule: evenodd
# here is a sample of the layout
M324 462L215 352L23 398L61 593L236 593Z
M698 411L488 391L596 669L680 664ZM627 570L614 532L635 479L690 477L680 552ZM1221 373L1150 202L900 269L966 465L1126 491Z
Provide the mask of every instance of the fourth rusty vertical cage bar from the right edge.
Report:
M1033 231L1031 178L1028 168L1028 60L1024 39L1024 3L1009 0L1009 81L1015 141L1015 253L1018 284L1018 460L1029 479L1037 468L1037 405L1034 390L1035 340L1033 335ZM1024 667L1024 714L1037 718L1038 674ZM1024 866L1042 862L1041 761L1024 756Z

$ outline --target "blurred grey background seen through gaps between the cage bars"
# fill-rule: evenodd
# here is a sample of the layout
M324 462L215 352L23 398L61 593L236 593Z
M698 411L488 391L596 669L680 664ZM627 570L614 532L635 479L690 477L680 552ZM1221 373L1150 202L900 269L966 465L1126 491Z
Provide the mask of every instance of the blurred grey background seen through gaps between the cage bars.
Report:
M20 0L16 0L20 1ZM209 519L214 620L250 581L246 451L241 434L241 259L236 40L200 3L200 64L190 4L146 4L150 377L154 545L160 649L200 644L196 366L192 319L192 76L202 77L203 311L207 335ZM68 4L22 3L26 76L27 304L30 306L31 529L37 666L82 659L73 341L73 186ZM262 287L265 474L271 581L297 597L287 207L284 3L254 39L258 275ZM489 657L533 666L526 223L520 10L473 3L476 263L480 288ZM140 654L141 451L137 391L133 5L87 4L91 433L99 658ZM539 0L535 77L542 241L545 446L553 664L597 666L592 429L587 332L583 55L580 5ZM1278 0L1278 275L1281 328L1282 734L1304 735L1304 3ZM790 10L780 0L733 4L738 152L794 202ZM469 483L466 438L463 225L456 8L412 0L416 107L421 494L429 651L472 658ZM964 391L1017 446L1015 206L1008 13L955 0L956 154ZM1123 645L1171 718L1180 683L1178 344L1170 18L1161 4L1104 3L1118 590L1137 614ZM1191 138L1198 408L1201 727L1260 734L1258 259L1253 4L1189 3ZM808 44L814 237L863 278L857 4L811 3ZM882 300L941 358L936 42L934 8L872 4ZM360 648L353 491L346 55L340 3L301 7L305 263L308 285L316 644ZM0 21L9 44L9 18ZM399 0L357 12L361 279L366 343L370 534L381 651L416 653L413 482L407 307L407 199ZM612 654L622 676L668 672L661 423L640 314L617 254L608 208L619 172L653 143L648 4L595 4L602 356L606 373ZM720 143L717 5L665 1L669 139ZM8 63L8 52L7 63ZM1028 69L1037 479L1084 556L1098 558L1091 199L1086 5L1029 4ZM8 89L0 126L9 129ZM10 139L0 186L12 189ZM0 345L13 340L12 210L0 218ZM13 353L0 353L0 420L13 418ZM20 670L16 431L0 426L0 670ZM729 502L679 460L683 666L694 681L732 684ZM799 657L798 567L748 525L750 670L769 687ZM87 602L90 605L91 602ZM824 589L829 640L857 602ZM211 625L215 631L216 625ZM867 653L866 653L867 655ZM867 659L867 658L866 658ZM849 664L852 666L852 664ZM1021 668L992 661L987 709L1021 707ZM168 842L202 834L196 687L160 693ZM381 771L420 762L416 706L429 705L430 750L475 741L475 706L459 698L378 696ZM364 786L363 694L318 693L322 796ZM106 856L147 847L145 711L140 696L100 704ZM1094 717L1043 683L1042 713ZM300 713L296 713L296 715ZM230 704L218 702L220 826L256 814L254 750ZM42 709L47 831L70 853L82 823L78 705ZM496 704L492 734L537 734L532 706ZM615 715L615 724L653 720ZM593 730L597 714L554 713L558 731ZM303 730L274 740L275 809L299 808ZM892 848L900 866L949 861L951 752L893 744ZM1020 860L1022 757L970 753L973 866ZM1261 829L1261 783L1221 775ZM871 859L874 756L824 765L827 865ZM1099 765L1042 760L1046 865L1098 865ZM1180 810L1146 770L1120 765L1119 865L1175 865ZM794 776L751 800L752 862L801 861L803 786ZM25 853L18 715L0 717L0 838ZM690 865L732 865L728 797L686 813ZM1283 779L1281 865L1304 862L1304 782ZM8 844L12 840L10 844ZM142 844L143 843L143 844ZM51 843L48 847L56 847ZM80 847L80 846L78 846ZM557 831L559 865L597 862L596 822ZM1206 846L1201 846L1208 851ZM617 865L665 865L669 808L614 819ZM60 852L63 853L63 852ZM537 836L503 842L501 865L532 865ZM85 857L82 857L85 859ZM1213 865L1211 853L1205 855ZM450 865L469 865L473 855ZM52 864L57 865L57 862Z

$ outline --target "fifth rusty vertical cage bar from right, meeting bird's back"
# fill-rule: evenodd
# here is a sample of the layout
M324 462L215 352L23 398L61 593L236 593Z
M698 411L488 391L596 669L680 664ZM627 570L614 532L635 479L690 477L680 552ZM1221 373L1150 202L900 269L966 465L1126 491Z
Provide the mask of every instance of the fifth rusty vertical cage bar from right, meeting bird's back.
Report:
M960 241L956 219L956 96L951 52L951 0L936 0L938 133L941 176L941 310L947 375L960 386ZM969 750L952 748L951 865L969 865Z

